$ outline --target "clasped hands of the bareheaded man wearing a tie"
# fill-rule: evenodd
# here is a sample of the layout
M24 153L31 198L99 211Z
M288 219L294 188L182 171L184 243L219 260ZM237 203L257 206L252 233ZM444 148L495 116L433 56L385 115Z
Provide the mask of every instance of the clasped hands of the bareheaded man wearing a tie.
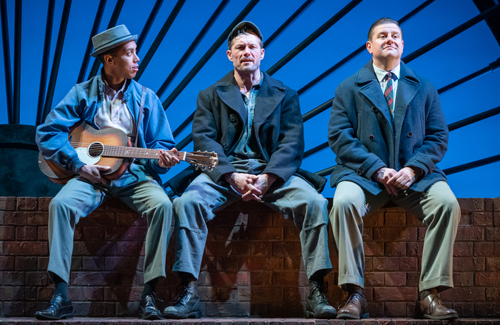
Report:
M411 184L414 184L415 179L419 176L415 172L420 174L419 169L412 169L410 167L404 167L400 171L382 167L375 171L373 179L384 185L389 194L398 195L399 189L405 190Z

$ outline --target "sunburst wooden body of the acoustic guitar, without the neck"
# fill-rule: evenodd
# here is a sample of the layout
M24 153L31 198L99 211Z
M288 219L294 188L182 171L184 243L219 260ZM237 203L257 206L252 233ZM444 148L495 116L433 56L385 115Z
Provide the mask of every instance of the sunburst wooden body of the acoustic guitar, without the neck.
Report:
M68 140L76 150L79 159L84 163L88 165L111 167L108 172L102 173L104 178L109 181L119 179L130 164L129 159L107 156L91 156L93 153L93 147L91 144L98 143L109 146L131 146L129 138L126 136L124 131L121 131L120 129L96 130L92 126L89 126L89 124L81 123L71 131L68 136ZM49 179L54 181L56 184L66 184L69 179L76 176L73 171L67 171L59 166L59 164L46 161L43 156L41 156L41 153L39 153L39 167L41 172L48 176Z

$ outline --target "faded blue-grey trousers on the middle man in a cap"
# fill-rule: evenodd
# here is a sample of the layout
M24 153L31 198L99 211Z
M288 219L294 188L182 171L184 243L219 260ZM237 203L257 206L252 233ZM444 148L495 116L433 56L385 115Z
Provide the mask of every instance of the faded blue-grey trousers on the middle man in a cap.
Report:
M200 174L181 197L174 199L176 256L173 271L186 272L198 278L208 230L206 221L215 212L239 201L234 189L215 184ZM300 231L302 259L308 278L316 271L331 271L328 250L327 201L304 179L291 176L286 183L271 186L263 203L294 220Z

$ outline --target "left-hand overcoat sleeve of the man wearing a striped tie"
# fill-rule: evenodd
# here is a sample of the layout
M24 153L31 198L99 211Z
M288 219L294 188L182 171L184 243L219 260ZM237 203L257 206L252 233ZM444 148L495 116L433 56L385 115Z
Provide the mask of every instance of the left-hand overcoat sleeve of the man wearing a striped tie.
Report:
M331 150L349 169L352 169L366 179L382 167L386 167L379 156L371 153L356 137L357 116L354 109L356 102L354 94L346 91L340 84L335 90L334 104L331 107L328 124L328 142Z

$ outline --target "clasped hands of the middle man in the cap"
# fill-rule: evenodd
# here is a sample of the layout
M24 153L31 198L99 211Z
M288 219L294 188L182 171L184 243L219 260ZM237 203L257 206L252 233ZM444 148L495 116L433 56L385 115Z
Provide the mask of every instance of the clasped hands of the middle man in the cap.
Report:
M276 181L274 174L253 175L234 172L225 174L224 178L235 191L241 194L243 201L261 201L261 196L264 196Z

